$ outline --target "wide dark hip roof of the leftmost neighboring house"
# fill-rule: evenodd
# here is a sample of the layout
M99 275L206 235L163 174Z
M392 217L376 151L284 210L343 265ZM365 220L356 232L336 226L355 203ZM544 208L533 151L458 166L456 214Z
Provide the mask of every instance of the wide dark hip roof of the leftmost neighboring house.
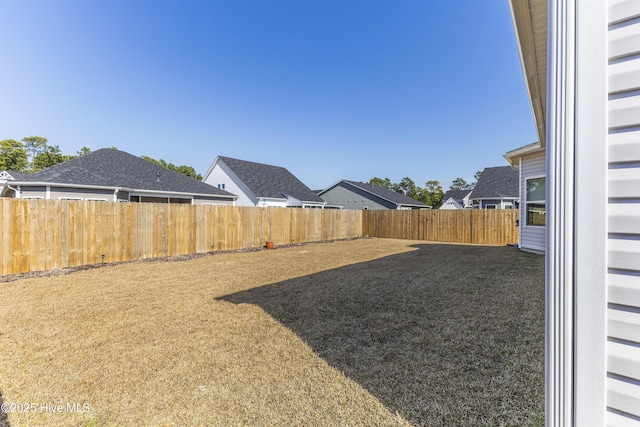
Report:
M46 182L233 197L234 195L124 151L103 148L22 174L16 181Z

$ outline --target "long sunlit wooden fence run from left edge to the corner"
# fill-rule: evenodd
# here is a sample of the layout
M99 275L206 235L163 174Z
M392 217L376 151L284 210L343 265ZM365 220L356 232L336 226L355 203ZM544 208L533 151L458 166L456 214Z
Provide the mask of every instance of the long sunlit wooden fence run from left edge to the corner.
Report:
M0 199L1 274L362 236L351 210Z

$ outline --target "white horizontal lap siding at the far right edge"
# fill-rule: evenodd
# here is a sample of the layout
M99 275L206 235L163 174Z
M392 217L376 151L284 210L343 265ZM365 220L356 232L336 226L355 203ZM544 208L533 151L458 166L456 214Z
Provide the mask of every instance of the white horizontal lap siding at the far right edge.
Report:
M640 425L640 3L609 1L608 425Z

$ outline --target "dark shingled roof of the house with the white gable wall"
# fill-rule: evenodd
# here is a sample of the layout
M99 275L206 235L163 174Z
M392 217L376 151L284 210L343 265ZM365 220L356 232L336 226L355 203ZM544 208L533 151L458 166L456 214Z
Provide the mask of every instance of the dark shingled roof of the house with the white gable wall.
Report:
M283 194L303 202L323 203L324 200L287 169L263 163L219 156L257 197L283 198Z

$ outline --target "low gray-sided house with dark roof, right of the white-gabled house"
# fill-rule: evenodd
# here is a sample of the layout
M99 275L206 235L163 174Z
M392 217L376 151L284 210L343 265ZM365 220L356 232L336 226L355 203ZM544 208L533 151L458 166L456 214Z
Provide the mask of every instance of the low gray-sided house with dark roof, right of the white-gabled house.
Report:
M430 209L431 206L385 187L340 180L318 193L329 205L344 209Z

